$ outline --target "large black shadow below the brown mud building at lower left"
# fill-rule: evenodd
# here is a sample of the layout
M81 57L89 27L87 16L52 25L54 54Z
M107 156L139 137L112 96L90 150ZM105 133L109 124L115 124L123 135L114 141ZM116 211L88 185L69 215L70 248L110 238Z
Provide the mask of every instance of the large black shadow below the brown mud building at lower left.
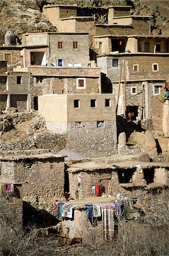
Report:
M47 228L58 224L56 217L48 213L46 210L37 210L32 205L23 201L23 226L35 225L36 228Z

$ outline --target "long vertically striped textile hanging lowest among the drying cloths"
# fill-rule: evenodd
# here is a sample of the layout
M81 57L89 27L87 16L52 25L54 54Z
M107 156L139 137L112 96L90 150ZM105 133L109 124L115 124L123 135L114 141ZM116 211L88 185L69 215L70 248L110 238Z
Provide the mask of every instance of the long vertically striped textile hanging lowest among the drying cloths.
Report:
M104 228L104 240L114 237L114 208L112 203L100 204Z

